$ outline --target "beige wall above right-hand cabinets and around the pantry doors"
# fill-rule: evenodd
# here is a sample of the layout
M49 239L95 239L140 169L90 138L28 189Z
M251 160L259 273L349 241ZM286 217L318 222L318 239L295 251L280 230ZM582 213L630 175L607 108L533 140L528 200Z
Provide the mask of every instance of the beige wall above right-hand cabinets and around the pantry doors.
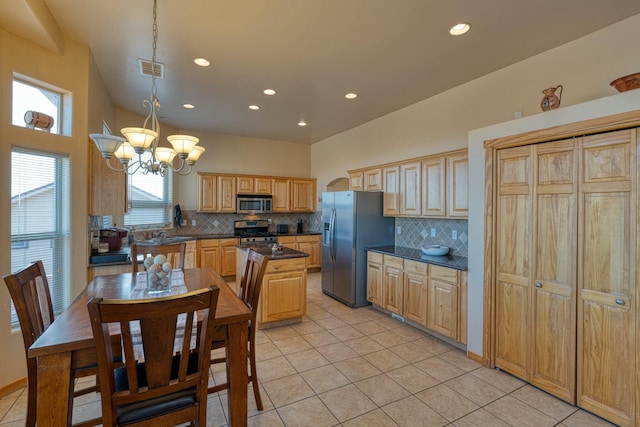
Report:
M575 121L583 109L596 115L633 109L640 90L616 95L609 83L640 71L640 15L503 68L440 95L335 135L311 147L318 192L347 170L469 147L469 337L482 354L484 150L469 131L497 123L498 132L545 128ZM561 108L542 113L542 90L562 84ZM602 103L582 103L605 98ZM574 108L567 108L574 105ZM635 107L638 108L638 107ZM521 111L524 119L513 120ZM477 135L486 137L478 131ZM496 135L497 136L497 135ZM495 137L495 136L494 136ZM481 145L481 144L480 144Z

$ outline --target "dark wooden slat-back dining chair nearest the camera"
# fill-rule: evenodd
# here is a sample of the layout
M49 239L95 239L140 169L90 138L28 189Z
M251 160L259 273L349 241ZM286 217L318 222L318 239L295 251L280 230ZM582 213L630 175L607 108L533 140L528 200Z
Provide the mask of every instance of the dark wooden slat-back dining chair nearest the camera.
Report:
M101 375L105 426L206 426L213 321L220 289L87 303ZM195 324L199 325L194 332ZM120 326L115 367L110 324Z

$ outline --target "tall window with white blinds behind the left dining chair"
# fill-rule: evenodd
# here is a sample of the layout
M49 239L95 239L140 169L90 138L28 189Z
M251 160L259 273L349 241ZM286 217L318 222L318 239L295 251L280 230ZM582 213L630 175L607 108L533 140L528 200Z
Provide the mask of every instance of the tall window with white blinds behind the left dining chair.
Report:
M11 271L42 260L55 314L71 300L69 176L66 156L11 150ZM13 307L11 324L18 327Z

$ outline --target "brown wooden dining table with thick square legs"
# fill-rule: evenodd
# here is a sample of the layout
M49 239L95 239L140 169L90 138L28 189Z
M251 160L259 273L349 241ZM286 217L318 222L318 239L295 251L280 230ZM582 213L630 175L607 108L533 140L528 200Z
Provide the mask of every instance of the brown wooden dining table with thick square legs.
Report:
M229 337L226 352L229 424L246 426L247 325L251 310L214 269L184 269L182 273L184 292L210 285L220 288L214 324L226 328ZM97 363L87 311L87 302L93 297L137 299L140 297L140 280L133 273L95 277L29 348L29 357L35 357L38 364L38 427L71 425L73 370Z

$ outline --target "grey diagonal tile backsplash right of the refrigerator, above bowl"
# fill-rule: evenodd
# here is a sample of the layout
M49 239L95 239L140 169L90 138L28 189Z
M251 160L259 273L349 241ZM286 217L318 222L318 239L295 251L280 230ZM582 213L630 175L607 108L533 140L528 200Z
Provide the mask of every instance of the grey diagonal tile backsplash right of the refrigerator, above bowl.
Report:
M468 253L468 225L466 219L440 218L396 218L396 246L420 248L420 246L443 245L449 246L451 255L467 256ZM431 237L431 230L435 230L435 237ZM458 238L452 238L453 231Z

